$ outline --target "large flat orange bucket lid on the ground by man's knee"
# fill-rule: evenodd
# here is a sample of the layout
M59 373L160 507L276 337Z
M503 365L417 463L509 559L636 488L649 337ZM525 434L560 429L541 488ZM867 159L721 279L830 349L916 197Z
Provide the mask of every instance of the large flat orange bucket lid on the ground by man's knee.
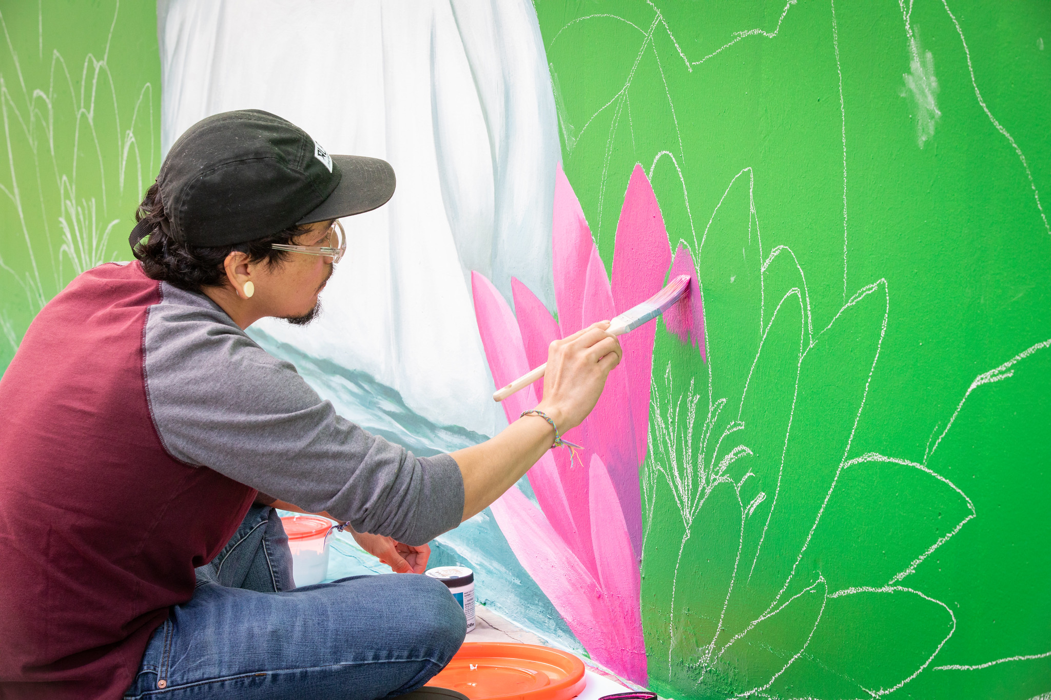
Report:
M467 642L428 685L470 700L571 700L584 690L583 661L534 644Z

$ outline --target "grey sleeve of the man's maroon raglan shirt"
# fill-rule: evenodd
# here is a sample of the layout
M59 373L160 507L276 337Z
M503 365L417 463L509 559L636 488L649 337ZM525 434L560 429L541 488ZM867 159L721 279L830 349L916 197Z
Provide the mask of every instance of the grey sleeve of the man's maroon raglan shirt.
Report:
M144 328L144 372L172 457L409 545L459 525L455 460L416 458L363 430L210 299L167 283L162 291Z

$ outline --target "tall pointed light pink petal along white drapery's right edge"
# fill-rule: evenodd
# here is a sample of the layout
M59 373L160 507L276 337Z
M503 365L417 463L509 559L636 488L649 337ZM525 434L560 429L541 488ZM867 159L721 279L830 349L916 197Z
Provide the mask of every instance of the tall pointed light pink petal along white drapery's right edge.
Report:
M555 273L555 302L562 337L583 327L582 305L588 261L595 242L577 195L558 166L555 172L555 207L551 226L551 252Z

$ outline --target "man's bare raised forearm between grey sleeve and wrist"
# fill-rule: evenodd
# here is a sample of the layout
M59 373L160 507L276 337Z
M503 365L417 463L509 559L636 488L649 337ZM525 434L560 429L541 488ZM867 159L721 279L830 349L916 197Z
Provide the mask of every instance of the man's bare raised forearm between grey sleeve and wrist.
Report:
M555 409L545 412L558 425L560 417ZM547 421L526 416L492 440L453 452L450 457L463 475L463 519L481 512L514 486L551 448L554 439L555 431Z

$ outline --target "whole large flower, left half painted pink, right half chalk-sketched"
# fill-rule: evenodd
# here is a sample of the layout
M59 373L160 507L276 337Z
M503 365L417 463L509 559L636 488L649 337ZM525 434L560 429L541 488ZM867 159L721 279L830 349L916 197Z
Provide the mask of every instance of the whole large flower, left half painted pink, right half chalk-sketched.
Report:
M885 279L815 327L796 255L764 248L750 169L727 186L696 253L680 246L672 262L663 225L640 226L661 219L636 168L610 285L561 172L557 182L558 321L524 287L514 288L516 316L474 278L497 385L542 362L551 340L612 316L618 284L642 287L644 298L669 262L671 274L700 280L652 335L622 339L634 341L624 343L626 372L569 436L585 445L581 460L547 454L529 474L536 504L512 489L493 505L512 550L595 660L669 697L878 698L924 672L1046 656L1009 643L1003 658L969 652L974 633L955 641L968 632L932 577L980 513L944 457L966 442L949 428L970 416L967 398L922 462L853 445L887 333ZM724 205L741 215L726 216ZM632 279L625 271L639 270L645 251L657 263ZM1051 357L1048 347L980 376L971 390L1001 387L1037 353ZM651 375L652 386L638 381ZM512 397L509 419L535 405L539 388ZM641 476L634 492L633 476Z

